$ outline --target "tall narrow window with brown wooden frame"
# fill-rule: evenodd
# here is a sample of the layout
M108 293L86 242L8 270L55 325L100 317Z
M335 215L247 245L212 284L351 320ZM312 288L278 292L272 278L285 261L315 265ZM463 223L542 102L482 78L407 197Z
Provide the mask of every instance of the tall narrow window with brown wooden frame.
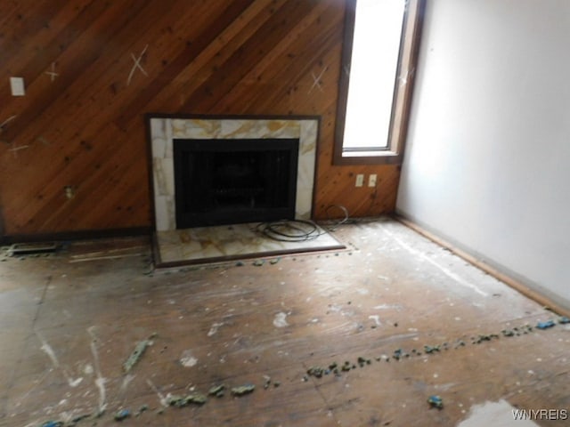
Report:
M334 163L400 163L424 0L347 0Z

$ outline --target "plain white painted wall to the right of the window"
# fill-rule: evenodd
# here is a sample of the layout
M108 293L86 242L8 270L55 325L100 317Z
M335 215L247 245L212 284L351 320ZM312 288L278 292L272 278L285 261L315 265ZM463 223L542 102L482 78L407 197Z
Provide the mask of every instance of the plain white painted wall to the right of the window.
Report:
M428 0L399 213L570 307L570 1Z

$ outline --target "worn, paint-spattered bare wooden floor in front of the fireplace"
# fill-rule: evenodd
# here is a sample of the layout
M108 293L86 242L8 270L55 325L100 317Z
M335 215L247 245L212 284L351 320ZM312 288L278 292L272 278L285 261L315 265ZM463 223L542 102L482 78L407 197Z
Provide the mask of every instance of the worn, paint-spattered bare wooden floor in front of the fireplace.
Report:
M107 426L128 409L126 426L452 426L501 399L570 409L555 313L398 222L334 234L356 250L153 271L148 239L124 238L4 259L0 425ZM223 397L168 406L219 384ZM244 384L255 391L232 396ZM486 424L512 423L501 416Z

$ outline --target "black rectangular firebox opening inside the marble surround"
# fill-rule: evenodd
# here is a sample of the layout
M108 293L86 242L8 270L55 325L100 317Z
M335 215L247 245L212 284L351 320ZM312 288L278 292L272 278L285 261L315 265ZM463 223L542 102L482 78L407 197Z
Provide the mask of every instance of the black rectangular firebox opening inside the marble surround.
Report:
M298 139L175 139L176 228L294 219L298 146Z

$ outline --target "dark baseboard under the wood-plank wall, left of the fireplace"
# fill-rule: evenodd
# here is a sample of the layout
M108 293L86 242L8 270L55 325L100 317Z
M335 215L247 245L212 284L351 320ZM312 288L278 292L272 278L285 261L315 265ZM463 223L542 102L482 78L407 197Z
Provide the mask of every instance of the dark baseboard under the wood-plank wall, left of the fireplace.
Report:
M77 230L61 231L55 233L12 234L0 238L0 244L12 245L14 243L89 240L94 238L128 238L136 236L151 236L151 227L130 227L125 229L106 230Z

